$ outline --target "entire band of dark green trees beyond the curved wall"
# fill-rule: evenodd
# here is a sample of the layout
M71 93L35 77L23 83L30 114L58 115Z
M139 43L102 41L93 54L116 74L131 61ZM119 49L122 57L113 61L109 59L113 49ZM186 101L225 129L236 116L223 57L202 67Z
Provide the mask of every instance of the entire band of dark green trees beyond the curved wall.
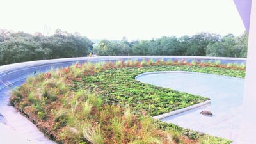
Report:
M224 56L245 58L248 35L220 36L197 33L193 36L164 36L152 40L93 42L79 33L67 33L58 29L52 36L34 35L0 29L0 65L23 61L87 56Z

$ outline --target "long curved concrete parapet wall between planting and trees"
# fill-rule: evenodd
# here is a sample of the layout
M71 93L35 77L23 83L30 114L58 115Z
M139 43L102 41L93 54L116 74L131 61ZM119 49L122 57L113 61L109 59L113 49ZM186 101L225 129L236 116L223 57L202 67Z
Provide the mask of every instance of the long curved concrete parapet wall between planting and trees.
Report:
M245 58L217 58L217 57L200 57L200 56L106 56L106 57L81 57L81 58L63 58L54 60L29 61L24 63L15 63L11 65L0 66L0 90L9 84L25 79L33 75L34 72L45 72L51 68L67 67L74 63L99 62L99 61L116 61L116 60L193 60L200 61L220 61L220 63L246 63Z

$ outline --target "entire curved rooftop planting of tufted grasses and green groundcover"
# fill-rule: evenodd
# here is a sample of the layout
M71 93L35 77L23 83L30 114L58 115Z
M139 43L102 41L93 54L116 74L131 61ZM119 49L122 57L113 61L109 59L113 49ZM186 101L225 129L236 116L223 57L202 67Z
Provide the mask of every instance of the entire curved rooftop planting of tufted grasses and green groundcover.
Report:
M143 72L162 70L244 77L241 67L212 63L76 63L28 77L10 101L58 143L230 143L151 117L207 100L134 79Z

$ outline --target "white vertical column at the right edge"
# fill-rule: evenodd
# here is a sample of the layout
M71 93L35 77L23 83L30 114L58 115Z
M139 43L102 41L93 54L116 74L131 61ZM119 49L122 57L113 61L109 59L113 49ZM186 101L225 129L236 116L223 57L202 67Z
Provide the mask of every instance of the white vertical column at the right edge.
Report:
M243 115L240 135L235 143L256 143L256 0L252 0L246 77L244 83Z

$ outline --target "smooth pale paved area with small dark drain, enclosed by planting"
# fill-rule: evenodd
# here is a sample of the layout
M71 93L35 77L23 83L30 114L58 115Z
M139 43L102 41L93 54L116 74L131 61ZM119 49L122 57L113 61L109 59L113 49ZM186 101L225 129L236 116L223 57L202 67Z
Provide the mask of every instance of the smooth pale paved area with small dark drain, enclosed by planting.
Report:
M229 140L237 138L241 121L244 79L175 71L145 73L136 79L143 83L211 99L211 104L161 119L164 122ZM211 111L214 116L200 115L203 110Z

